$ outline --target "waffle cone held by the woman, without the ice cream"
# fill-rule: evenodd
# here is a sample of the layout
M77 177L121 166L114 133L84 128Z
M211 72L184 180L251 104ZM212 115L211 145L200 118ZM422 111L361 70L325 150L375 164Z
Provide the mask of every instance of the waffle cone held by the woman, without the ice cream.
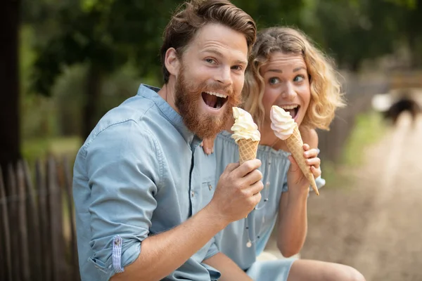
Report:
M293 158L295 158L300 170L305 175L309 183L311 183L312 189L315 191L316 195L319 195L318 188L316 188L315 178L312 174L311 169L306 164L306 158L303 155L303 141L300 136L298 125L296 124L295 129L292 135L286 139L286 145L288 150L290 150Z

